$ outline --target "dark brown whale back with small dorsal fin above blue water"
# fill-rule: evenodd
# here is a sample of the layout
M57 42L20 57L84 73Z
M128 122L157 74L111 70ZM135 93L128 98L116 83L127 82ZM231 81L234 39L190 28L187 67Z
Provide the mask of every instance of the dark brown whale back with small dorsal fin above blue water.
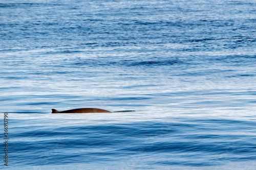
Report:
M52 113L112 113L108 110L96 109L96 108L81 108L81 109L71 109L65 111L58 111L52 109Z

